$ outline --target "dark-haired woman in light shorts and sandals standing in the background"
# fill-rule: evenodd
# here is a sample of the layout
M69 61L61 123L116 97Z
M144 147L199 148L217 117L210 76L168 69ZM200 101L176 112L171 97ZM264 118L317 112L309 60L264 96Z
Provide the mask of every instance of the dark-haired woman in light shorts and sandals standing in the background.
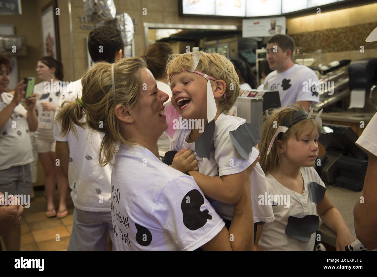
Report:
M40 97L35 105L38 115L38 129L35 131L38 157L44 170L44 188L47 195L47 217L66 217L68 181L56 165L54 140L54 114L63 94L60 82L63 79L63 64L52 57L40 58L35 68L43 82L34 86L34 93ZM54 207L55 184L60 196L59 210Z

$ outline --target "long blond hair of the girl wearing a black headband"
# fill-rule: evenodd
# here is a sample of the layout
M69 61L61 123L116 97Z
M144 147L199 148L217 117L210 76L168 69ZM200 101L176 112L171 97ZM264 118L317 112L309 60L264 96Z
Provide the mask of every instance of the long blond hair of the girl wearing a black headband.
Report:
M281 124L283 124L285 119L290 118L290 120L292 120L293 113L298 110L305 109L298 104L292 104L284 109L276 109L262 126L261 140L259 141L259 151L261 156L259 164L261 165L266 175L270 173L275 167L280 166L280 153L278 151L277 136L272 144L270 153L267 156L267 150L268 146L270 145L271 139L276 133L277 128ZM321 125L316 120L312 118L303 119L290 127L288 131L282 136L283 143L286 142L287 139L291 136L296 136L296 139L298 140L299 136L305 130L305 126L307 126L307 124L311 125L311 132L317 130L318 134L320 134Z

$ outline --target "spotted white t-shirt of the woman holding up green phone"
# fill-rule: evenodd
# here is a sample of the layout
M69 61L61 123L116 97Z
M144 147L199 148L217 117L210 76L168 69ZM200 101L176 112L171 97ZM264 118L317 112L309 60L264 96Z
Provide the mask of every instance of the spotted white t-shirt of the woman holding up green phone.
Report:
M0 102L0 111L11 103L13 95L3 92L1 98L3 101ZM26 109L18 104L0 130L0 170L34 161L26 112Z

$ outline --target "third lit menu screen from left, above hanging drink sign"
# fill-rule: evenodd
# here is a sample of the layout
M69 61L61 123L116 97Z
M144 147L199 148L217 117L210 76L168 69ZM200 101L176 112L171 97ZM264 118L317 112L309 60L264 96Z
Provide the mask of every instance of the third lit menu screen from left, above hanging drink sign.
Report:
M280 15L281 0L248 0L246 1L246 16Z

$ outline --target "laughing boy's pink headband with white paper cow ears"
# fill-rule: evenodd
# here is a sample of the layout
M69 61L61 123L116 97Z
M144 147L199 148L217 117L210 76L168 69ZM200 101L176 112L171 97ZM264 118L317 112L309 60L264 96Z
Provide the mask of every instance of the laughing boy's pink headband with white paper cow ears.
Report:
M216 116L217 108L216 108L215 97L213 96L213 91L212 91L210 80L217 81L217 79L196 70L196 67L199 64L199 60L200 60L200 53L195 52L193 56L193 64L191 66L191 69L189 70L182 69L182 71L190 71L193 73L197 73L199 75L202 75L205 79L208 80L207 81L207 120L208 122L211 122L212 119L214 119ZM172 80L172 77L174 74L175 73L172 73L172 75L170 75L169 85L170 85L170 80ZM225 95L225 93L224 93L224 100L227 101L227 96Z

